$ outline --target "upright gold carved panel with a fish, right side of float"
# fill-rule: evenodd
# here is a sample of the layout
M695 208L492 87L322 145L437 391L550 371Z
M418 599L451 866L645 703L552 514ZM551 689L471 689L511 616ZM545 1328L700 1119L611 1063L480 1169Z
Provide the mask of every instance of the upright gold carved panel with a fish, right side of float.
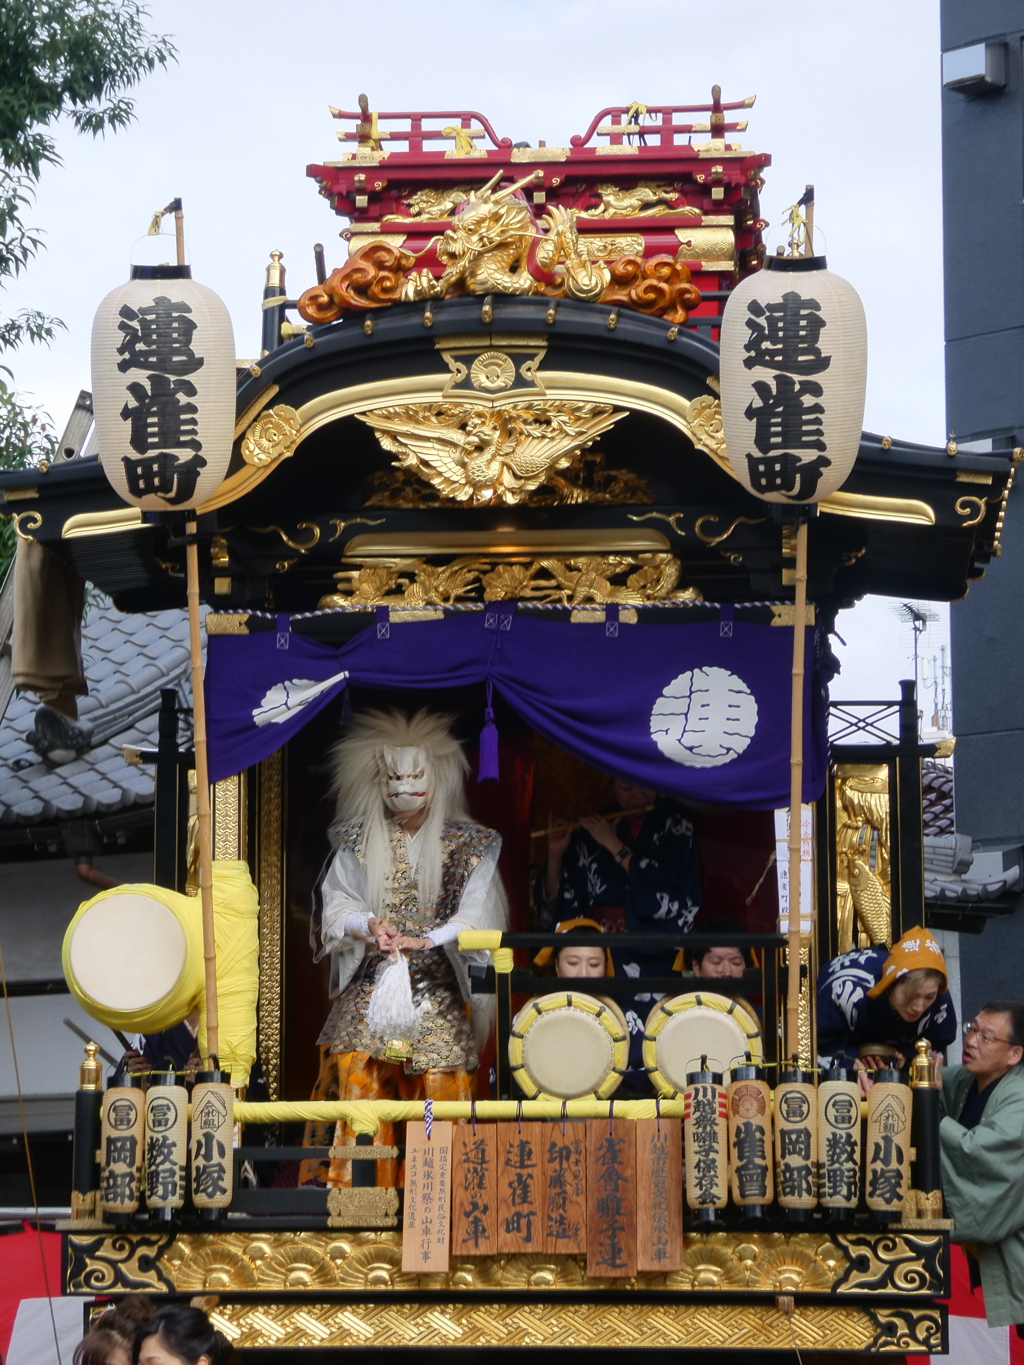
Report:
M836 768L836 916L840 953L892 943L889 766Z

